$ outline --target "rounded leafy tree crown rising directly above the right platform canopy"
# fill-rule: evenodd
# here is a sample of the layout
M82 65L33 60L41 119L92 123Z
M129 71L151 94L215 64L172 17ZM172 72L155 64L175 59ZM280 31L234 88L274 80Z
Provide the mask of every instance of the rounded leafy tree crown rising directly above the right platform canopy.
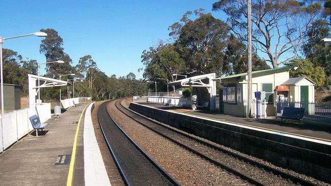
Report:
M185 17L185 15L184 15ZM222 60L228 37L228 25L210 13L196 20L186 20L180 28L175 46L186 66L196 74L223 73Z

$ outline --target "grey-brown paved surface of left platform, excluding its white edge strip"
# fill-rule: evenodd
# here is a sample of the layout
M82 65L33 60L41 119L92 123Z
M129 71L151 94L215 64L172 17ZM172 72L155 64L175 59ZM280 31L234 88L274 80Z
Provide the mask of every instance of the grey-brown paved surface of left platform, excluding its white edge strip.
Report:
M69 108L60 118L52 116L45 135L36 137L33 132L0 154L0 185L66 185L77 123L86 105ZM77 136L73 185L85 184L83 129L84 114Z

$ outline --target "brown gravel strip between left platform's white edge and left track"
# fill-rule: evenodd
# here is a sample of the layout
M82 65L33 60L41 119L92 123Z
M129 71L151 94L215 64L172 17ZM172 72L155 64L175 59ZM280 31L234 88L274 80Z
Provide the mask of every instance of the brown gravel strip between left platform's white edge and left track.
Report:
M94 103L94 110L92 111L92 122L93 122L93 127L94 127L94 133L95 133L95 137L97 138L97 142L98 142L98 145L99 145L99 148L101 151L103 163L106 168L108 178L111 181L111 184L113 186L122 186L122 185L124 185L122 177L117 170L116 164L112 158L112 154L109 152L109 149L103 138L102 132L100 130L99 122L98 122L97 111L98 111L99 106L102 103L103 103L103 101Z

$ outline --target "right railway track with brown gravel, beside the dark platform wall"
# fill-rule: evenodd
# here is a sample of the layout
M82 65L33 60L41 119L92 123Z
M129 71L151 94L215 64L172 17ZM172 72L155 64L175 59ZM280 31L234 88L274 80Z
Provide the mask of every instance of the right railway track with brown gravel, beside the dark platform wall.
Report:
M216 166L234 174L254 185L316 185L308 180L301 179L270 166L261 164L249 158L240 156L227 149L220 148L211 143L200 140L199 138L187 135L179 130L175 130L163 123L152 120L139 113L131 111L117 100L115 106L131 119L139 122L141 125L161 135L164 138L180 145L181 147L197 154L205 160ZM235 168L233 168L235 165Z

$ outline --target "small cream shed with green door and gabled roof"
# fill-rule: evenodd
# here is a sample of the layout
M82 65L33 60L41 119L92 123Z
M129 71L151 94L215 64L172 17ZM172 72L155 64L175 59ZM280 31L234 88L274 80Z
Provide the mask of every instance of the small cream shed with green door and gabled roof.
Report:
M289 101L315 102L315 82L307 77L290 78L282 85L289 88Z

